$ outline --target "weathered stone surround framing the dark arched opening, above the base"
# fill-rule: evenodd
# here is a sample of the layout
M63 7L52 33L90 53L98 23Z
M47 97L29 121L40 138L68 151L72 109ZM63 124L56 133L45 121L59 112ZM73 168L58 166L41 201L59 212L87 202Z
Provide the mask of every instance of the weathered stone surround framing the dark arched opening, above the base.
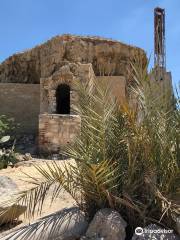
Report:
M70 87L70 114L78 101L76 82L92 84L95 78L91 64L70 63L61 67L52 76L40 79L40 112L56 113L56 90L59 85Z

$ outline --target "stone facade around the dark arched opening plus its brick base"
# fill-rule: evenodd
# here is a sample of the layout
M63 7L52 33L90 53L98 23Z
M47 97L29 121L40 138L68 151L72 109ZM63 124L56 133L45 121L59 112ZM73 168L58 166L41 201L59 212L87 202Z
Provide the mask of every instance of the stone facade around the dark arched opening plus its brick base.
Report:
M78 103L76 82L93 84L94 72L91 64L69 63L52 76L40 80L39 150L57 152L71 143L80 133L81 118L74 115ZM66 84L70 89L69 114L56 114L56 91Z

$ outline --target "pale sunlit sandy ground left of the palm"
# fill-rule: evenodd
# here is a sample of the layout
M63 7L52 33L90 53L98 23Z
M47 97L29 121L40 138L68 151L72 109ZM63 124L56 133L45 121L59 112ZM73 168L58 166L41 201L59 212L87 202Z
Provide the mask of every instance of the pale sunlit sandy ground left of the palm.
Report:
M58 160L58 164L63 166L64 161L73 162L73 160ZM40 164L41 166L46 167L47 162L51 163L50 160L43 160L43 159L32 159L31 161L20 162L17 164L16 167L13 167L13 168L8 167L7 169L0 170L0 176L4 175L7 177L10 177L17 184L19 191L23 191L33 186L31 183L28 182L29 178L25 175L25 173L27 173L30 176L35 176L36 178L39 178L40 174L34 168L33 164L37 164L37 165ZM65 191L61 192L60 197L55 202L53 202L52 205L51 205L51 196L52 196L52 193L50 192L50 194L48 195L47 199L44 202L41 216L38 216L37 214L35 214L34 219L32 219L32 221L30 222L34 222L40 217L44 217L46 215L49 215L63 208L68 208L75 205L75 201L73 200L73 198ZM5 236L7 233L11 232L12 230L15 230L20 226L23 226L29 223L29 220L25 219L23 215L20 216L19 221L20 221L19 224L16 226L3 226L3 227L1 226L0 237Z

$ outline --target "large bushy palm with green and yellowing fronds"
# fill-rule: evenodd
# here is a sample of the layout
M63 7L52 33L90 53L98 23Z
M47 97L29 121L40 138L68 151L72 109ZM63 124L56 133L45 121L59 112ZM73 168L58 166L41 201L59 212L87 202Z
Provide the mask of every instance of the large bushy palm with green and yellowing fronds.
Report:
M81 133L65 154L76 164L35 166L42 181L23 192L16 203L27 204L29 217L41 212L49 188L52 200L64 188L87 216L104 207L122 213L132 228L158 222L174 228L180 206L180 112L163 107L148 88L147 66L133 65L136 101L118 106L110 86L78 84Z

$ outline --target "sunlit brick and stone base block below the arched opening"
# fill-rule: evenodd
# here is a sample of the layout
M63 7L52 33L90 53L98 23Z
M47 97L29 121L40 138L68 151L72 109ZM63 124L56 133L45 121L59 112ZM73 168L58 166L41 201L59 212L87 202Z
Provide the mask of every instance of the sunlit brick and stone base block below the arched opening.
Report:
M80 133L80 125L81 118L78 115L40 114L40 152L57 152L72 143Z

